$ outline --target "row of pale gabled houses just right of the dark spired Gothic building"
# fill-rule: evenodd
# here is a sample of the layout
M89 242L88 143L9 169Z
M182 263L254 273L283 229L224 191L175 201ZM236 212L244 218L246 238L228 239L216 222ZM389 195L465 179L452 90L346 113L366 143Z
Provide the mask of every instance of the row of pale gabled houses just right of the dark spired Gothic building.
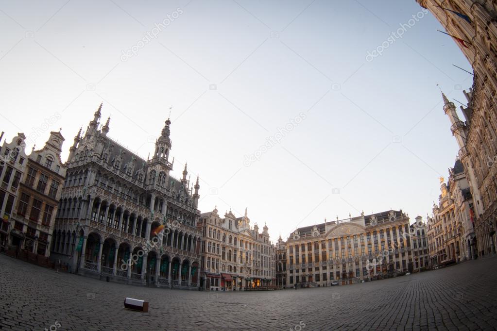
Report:
M230 210L221 218L214 208L201 214L197 226L203 234L201 269L206 290L240 291L276 284L275 248L268 227L262 233L257 224L250 228L247 209L243 217Z

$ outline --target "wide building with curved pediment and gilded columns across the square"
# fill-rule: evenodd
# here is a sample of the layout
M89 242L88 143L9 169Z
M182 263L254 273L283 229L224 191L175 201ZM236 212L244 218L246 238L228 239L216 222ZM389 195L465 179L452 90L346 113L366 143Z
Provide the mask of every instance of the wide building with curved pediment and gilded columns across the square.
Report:
M409 231L402 210L298 228L286 241L286 284L328 286L407 272L413 260Z

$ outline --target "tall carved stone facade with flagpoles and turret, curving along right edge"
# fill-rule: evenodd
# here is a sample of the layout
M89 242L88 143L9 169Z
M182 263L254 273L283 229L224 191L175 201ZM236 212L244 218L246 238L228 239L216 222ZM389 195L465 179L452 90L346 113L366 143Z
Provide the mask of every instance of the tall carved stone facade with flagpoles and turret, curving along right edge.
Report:
M495 253L497 228L497 3L490 0L416 0L456 41L473 67L473 87L461 107L465 123L444 96L470 183L478 255ZM454 116L455 115L455 116Z

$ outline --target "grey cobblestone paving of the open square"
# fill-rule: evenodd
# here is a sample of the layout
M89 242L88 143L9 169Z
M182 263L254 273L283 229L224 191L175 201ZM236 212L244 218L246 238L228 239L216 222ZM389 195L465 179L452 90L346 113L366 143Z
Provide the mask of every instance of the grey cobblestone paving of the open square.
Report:
M496 271L490 257L355 285L209 293L107 283L0 255L0 329L495 330ZM149 312L124 309L125 297L149 301Z

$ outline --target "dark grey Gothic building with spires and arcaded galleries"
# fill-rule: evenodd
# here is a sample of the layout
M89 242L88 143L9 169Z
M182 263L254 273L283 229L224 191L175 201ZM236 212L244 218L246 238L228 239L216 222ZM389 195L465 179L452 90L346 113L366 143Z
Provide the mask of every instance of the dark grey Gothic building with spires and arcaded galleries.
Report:
M101 107L70 148L54 261L115 281L198 287L199 184L197 178L190 185L186 165L181 180L169 175L171 122L167 119L153 157L145 160L107 136L109 119L99 129Z

